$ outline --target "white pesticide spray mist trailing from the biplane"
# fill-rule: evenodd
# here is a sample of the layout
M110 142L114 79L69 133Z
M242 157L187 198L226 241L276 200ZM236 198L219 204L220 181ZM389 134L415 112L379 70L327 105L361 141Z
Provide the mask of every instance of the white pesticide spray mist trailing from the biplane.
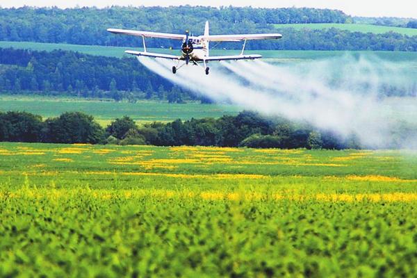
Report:
M393 138L398 126L416 126L417 101L411 95L417 75L406 64L353 56L280 64L233 61L211 64L206 76L191 65L174 75L170 61L138 60L172 83L215 101L309 122L344 138L354 135L366 147L389 147L393 140L400 147L416 147L414 132ZM408 96L386 98L387 92Z

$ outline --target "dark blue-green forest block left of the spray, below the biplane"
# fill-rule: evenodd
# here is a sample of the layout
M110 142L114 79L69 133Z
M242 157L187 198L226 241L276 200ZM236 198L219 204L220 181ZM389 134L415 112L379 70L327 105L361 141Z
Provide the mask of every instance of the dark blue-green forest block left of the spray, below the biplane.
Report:
M30 51L0 48L0 91L39 92L181 102L195 95L143 67L135 58L90 56L72 51Z

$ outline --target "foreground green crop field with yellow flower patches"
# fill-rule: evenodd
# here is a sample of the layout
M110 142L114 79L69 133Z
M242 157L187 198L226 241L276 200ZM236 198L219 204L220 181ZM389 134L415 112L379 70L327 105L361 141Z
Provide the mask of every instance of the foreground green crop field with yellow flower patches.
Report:
M0 144L0 277L416 277L417 154Z

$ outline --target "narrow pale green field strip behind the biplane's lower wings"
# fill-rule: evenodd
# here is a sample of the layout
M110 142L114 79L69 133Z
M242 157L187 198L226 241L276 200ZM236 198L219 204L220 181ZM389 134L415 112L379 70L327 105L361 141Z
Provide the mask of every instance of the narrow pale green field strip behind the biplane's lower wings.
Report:
M124 50L132 49L132 47L102 47L94 45L76 45L76 44L49 44L42 42L0 42L1 48L13 47L15 49L32 49L36 51L53 51L55 49L62 49L67 51L79 51L83 54L108 56L121 58L124 55ZM141 49L141 44L138 44L138 49ZM178 51L169 49L148 49L164 54L178 54ZM317 60L323 58L339 57L346 54L353 56L376 56L384 60L391 61L409 61L417 60L417 52L402 52L402 51L314 51L314 50L248 50L247 54L261 54L263 58L280 61L293 62L294 60ZM211 50L211 55L234 55L240 54L238 50Z

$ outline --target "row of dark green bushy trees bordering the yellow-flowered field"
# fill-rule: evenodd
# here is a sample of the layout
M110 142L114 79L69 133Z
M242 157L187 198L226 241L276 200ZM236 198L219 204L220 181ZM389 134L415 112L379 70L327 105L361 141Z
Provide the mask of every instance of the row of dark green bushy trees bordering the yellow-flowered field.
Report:
M219 119L154 122L141 127L125 116L106 129L92 116L79 112L63 113L44 121L31 113L8 112L0 113L0 141L286 149L359 147L357 141L342 140L330 132L248 111Z

